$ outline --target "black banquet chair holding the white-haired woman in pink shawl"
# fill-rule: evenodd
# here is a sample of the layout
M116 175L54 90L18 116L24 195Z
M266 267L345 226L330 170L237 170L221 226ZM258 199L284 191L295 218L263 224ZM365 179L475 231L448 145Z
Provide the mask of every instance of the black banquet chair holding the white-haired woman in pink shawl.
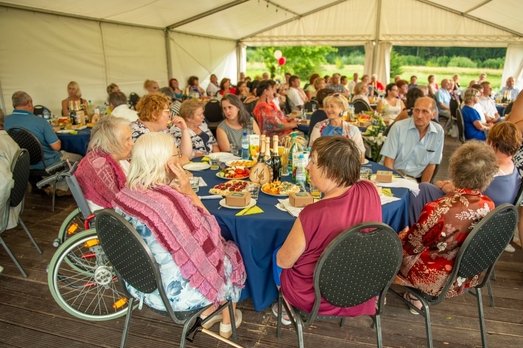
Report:
M219 306L218 309L216 309L204 320L201 320L198 317L200 314L202 314L203 311L209 307L212 307L212 304L190 311L173 311L172 307L170 306L169 299L165 294L160 268L158 268L158 264L156 263L151 250L149 247L147 247L138 232L123 217L121 217L112 209L97 211L95 212L95 215L96 234L100 241L100 245L104 249L107 259L115 270L115 275L118 277L118 281L120 282L120 286L124 295L130 299L129 309L127 311L126 321L123 327L123 335L120 345L121 348L126 346L127 334L129 332L129 326L131 323L132 310L136 301L136 299L133 298L127 291L125 282L129 283L135 289L138 289L140 292L145 294L150 294L158 289L158 292L162 297L162 302L167 310L161 311L151 307L149 308L157 314L170 318L177 324L184 325L184 329L181 334L180 348L185 347L187 340L192 342L197 331L203 331L212 337L221 340L222 342L236 347L241 347L240 345L234 343L238 341L234 320L231 320L232 337L234 342L231 342L222 338L220 335L201 328L201 324L204 324L212 319L225 307L229 308L229 314L231 315L231 318L234 318L232 301L227 301L225 304ZM190 329L189 325L194 319L197 319L196 323L192 329ZM188 334L190 335L187 339Z

